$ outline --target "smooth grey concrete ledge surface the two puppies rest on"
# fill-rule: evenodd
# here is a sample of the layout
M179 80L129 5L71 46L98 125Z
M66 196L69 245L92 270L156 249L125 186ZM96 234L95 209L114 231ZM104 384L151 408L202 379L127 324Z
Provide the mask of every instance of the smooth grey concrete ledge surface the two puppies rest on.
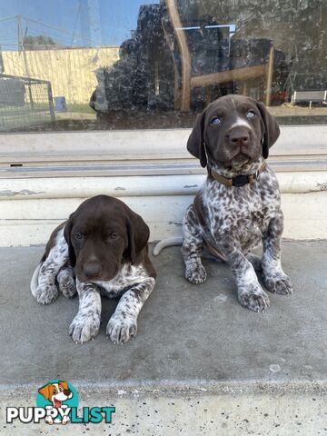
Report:
M29 291L42 247L0 249L0 384L64 379L121 387L203 383L324 382L327 373L327 242L284 242L282 263L292 297L270 294L265 313L243 309L224 264L205 261L207 282L183 278L179 248L154 259L158 281L144 305L134 342L115 345L105 325L116 301L104 300L92 342L75 344L68 326L78 299L40 306ZM200 388L201 389L201 388Z

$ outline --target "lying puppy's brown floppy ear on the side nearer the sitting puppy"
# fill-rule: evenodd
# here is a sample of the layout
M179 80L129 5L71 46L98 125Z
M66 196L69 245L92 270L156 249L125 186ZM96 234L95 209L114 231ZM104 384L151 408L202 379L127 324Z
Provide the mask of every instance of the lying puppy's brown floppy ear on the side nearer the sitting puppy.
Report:
M129 211L126 218L128 247L125 251L126 257L131 260L131 263L135 263L136 254L141 252L149 240L150 230L144 223L143 218Z

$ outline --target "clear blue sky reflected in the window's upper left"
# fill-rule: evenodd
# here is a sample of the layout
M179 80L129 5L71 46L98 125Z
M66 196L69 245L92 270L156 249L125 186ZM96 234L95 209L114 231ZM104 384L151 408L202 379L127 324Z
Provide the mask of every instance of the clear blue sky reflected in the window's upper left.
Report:
M16 50L22 34L51 37L62 46L121 45L136 28L140 5L155 0L1 0L0 45Z

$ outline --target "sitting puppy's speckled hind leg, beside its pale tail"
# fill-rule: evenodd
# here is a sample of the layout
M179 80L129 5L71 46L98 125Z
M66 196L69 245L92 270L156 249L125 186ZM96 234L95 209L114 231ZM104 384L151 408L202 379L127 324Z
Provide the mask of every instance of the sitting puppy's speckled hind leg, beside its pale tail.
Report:
M192 283L202 283L206 279L206 271L201 262L203 251L202 228L193 204L186 210L183 219L183 260L185 263L185 278Z

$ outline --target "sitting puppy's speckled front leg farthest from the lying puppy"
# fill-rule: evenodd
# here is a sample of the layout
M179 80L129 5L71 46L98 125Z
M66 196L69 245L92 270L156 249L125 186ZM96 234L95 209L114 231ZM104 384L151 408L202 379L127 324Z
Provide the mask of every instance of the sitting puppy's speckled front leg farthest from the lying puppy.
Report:
M263 237L263 283L270 292L289 295L293 292L292 282L282 271L281 265L282 221L282 211L279 211L272 218Z

